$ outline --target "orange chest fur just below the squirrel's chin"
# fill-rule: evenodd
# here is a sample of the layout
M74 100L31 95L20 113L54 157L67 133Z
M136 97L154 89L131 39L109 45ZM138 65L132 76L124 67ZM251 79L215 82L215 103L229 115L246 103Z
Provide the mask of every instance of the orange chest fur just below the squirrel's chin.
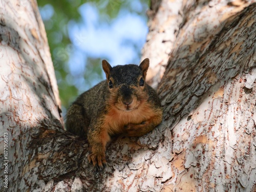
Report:
M144 104L133 111L121 111L115 108L110 108L105 116L104 128L108 129L109 133L118 134L123 132L123 127L128 124L140 124L154 115L154 111Z

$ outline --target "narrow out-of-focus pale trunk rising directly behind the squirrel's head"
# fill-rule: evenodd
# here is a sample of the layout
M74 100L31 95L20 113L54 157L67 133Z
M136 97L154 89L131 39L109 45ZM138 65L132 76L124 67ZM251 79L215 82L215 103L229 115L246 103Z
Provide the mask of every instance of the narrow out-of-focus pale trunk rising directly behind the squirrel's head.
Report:
M151 59L147 82L155 88L163 77L169 55L174 49L179 25L183 19L181 11L185 8L186 2L152 0L151 8L147 11L149 33L142 50L142 60Z

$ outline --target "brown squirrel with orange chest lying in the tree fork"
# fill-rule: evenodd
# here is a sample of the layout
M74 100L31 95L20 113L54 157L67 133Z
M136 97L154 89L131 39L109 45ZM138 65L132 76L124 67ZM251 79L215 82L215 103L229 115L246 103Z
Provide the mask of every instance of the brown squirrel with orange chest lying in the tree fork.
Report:
M140 65L112 67L102 60L106 80L83 92L70 106L67 131L88 139L89 162L100 168L106 164L105 146L112 135L139 137L162 122L157 92L145 82L150 60Z

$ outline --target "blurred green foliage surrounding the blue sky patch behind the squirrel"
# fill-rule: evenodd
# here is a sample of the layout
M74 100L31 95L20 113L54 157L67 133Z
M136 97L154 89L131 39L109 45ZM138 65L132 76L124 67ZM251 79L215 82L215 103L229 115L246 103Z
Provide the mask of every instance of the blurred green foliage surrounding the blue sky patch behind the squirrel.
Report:
M95 84L95 82L91 81L92 79L100 82L104 77L101 69L102 58L88 58L87 61L84 61L84 63L87 63L83 75L83 83L86 86L76 87L74 85L76 77L73 77L70 74L68 62L70 55L75 50L75 46L72 44L68 34L68 23L69 21L75 21L76 23L81 22L81 16L78 9L82 4L88 2L96 4L100 13L99 17L104 21L109 19L108 22L118 15L121 8L131 9L128 6L126 7L126 1L124 0L37 0L40 10L45 9L47 5L51 5L50 7L54 9L53 15L47 19L43 18L43 21L47 32L60 99L64 111L65 108L75 100L78 94ZM140 0L140 2L146 5L149 3L148 0ZM129 11L134 12L133 10ZM138 14L145 16L144 13Z

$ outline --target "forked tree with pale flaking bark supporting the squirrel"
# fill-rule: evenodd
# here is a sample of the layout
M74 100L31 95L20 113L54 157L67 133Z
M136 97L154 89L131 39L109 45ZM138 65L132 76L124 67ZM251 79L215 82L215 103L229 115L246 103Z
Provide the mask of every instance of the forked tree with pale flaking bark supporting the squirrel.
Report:
M36 2L0 5L1 190L256 190L256 3L152 1L143 56L158 67L163 122L113 141L102 171L63 130Z

